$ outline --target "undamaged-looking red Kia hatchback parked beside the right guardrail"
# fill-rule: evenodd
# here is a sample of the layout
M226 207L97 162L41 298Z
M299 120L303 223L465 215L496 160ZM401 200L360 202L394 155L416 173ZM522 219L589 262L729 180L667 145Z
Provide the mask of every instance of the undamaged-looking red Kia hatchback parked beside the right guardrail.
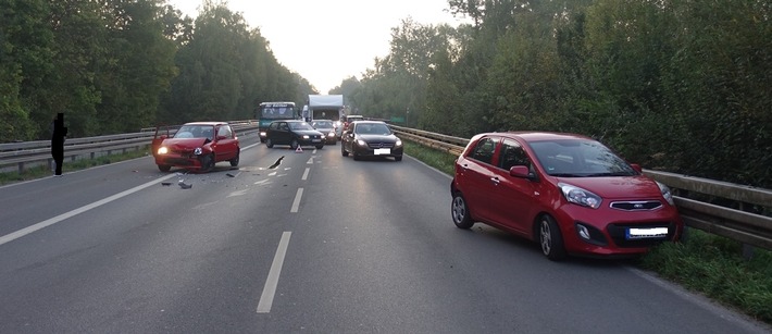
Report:
M478 134L456 160L450 194L456 226L509 231L550 260L636 256L683 232L665 185L575 134Z

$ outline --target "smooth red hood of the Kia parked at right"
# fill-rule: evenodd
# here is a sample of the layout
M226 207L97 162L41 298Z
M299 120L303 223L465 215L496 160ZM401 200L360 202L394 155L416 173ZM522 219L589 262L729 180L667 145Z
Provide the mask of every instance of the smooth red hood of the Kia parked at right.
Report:
M659 198L657 183L644 175L609 177L558 177L561 183L577 186L602 198Z

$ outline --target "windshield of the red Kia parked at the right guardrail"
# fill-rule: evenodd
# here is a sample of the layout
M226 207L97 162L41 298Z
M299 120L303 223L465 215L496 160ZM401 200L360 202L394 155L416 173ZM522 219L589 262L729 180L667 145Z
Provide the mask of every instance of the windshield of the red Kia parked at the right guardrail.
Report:
M631 176L637 172L609 148L594 140L566 139L531 143L536 158L552 176Z

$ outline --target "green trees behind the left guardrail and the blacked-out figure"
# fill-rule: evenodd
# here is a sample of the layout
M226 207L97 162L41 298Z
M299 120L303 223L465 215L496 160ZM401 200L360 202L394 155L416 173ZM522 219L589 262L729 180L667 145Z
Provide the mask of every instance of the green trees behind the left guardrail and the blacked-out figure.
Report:
M0 0L0 143L159 123L252 119L313 88L224 2L196 20L162 0Z

